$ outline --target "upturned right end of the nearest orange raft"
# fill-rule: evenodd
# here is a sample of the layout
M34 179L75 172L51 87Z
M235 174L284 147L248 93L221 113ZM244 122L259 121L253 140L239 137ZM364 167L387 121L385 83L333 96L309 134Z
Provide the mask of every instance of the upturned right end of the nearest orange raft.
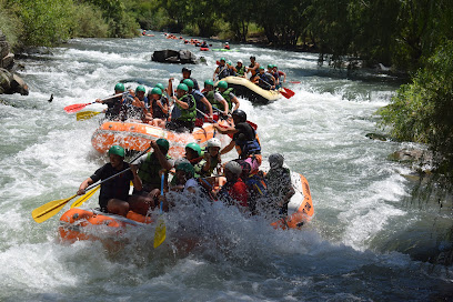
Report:
M310 185L305 177L292 172L291 180L295 194L288 203L288 217L271 223L275 229L301 229L314 214Z

